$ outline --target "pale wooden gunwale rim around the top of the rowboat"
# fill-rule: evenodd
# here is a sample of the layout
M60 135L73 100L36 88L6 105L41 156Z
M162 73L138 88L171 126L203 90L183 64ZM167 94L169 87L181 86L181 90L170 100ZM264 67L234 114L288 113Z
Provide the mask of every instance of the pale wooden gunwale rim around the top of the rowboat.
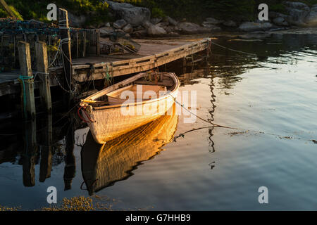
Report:
M134 103L125 103L125 104L118 104L118 105L106 105L106 106L99 106L99 107L94 107L92 105L90 105L89 103L80 103L81 106L91 106L92 107L92 110L95 110L95 111L98 111L98 110L104 110L104 109L111 109L111 108L121 108L121 107L130 107L130 106L135 106L135 105L143 105L143 104L147 104L147 103L153 103L153 102L156 102L156 101L162 101L162 100L165 100L166 98L169 98L169 97L173 97L173 94L175 93L175 91L178 91L179 87L180 87L180 81L177 77L177 75L175 75L175 72L156 72L156 74L162 74L163 75L168 75L168 77L172 78L173 81L174 81L174 89L172 91L170 91L169 93L163 95L163 96L160 96L159 98L154 98L154 99L149 99L147 101L139 101L139 102L134 102ZM108 92L107 91L111 91L113 89L113 86L120 86L120 84L129 84L130 82L134 82L136 81L137 79L139 79L140 77L144 77L144 75L147 75L147 72L140 72L139 74L133 76L133 77L130 77L128 79L125 79L123 80L122 82L118 82L117 84L113 84L112 86L109 86L107 87L106 89L102 89L101 91L98 91L97 93L93 94L92 96L88 96L87 98L84 99L87 100L87 101L91 101L92 98L99 98L103 95L106 95ZM142 85L142 84L141 84ZM112 91L116 91L116 89L112 90ZM103 94L104 93L104 94ZM99 96L99 94L103 94L101 96ZM173 97L174 98L174 97Z

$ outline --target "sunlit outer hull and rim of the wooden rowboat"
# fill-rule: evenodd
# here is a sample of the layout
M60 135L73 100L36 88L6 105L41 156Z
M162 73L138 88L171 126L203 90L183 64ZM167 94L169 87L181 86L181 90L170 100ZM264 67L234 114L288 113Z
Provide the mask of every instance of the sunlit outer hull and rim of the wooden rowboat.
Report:
M82 116L86 121L91 121L89 122L89 128L94 140L97 143L104 144L111 139L115 139L133 129L156 120L162 115L166 115L175 103L180 83L175 74L167 73L165 76L173 80L173 89L167 91L163 96L159 96L159 98L103 107L92 107L92 105L82 103L81 106L85 107L85 113L82 113ZM126 81L104 89L104 91L99 91L99 93L87 98L87 100L91 101L100 98L100 96L107 94L109 91L120 87L121 84L130 84L140 77L144 77L144 74L136 75Z

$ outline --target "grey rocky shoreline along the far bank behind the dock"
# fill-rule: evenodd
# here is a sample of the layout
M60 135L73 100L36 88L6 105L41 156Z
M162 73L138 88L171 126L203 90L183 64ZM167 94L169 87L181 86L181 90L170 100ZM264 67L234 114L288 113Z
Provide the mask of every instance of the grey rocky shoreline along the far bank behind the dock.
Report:
M303 27L317 30L317 4L307 6L302 2L284 1L287 14L269 11L268 21L218 20L206 18L201 25L190 23L186 19L177 21L169 16L151 18L149 8L132 4L106 1L114 18L113 23L100 24L101 37L108 37L114 32L125 33L128 37L180 37L192 34L220 34L223 32L244 32L245 39L265 37L271 32L286 32ZM80 19L82 20L82 18ZM75 23L76 19L74 18ZM260 38L261 39L261 38Z

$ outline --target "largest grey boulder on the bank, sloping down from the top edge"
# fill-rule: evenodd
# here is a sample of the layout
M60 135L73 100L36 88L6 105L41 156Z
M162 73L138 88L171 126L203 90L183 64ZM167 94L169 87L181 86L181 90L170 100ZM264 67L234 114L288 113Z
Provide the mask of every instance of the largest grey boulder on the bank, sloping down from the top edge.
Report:
M130 23L132 26L142 25L144 21L150 20L151 11L149 8L136 7L131 4L106 1L109 8L115 11L120 18Z

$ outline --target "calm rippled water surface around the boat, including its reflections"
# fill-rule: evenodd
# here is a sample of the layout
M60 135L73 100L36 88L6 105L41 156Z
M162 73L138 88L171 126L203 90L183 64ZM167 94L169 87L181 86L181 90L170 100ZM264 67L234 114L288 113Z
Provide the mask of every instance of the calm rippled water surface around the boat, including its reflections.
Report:
M113 210L317 210L317 36L213 41L257 57L213 46L180 91L197 91L199 117L240 130L169 116L101 147L73 130L76 115L38 120L1 136L0 205L47 207L55 186L58 201L92 195Z

